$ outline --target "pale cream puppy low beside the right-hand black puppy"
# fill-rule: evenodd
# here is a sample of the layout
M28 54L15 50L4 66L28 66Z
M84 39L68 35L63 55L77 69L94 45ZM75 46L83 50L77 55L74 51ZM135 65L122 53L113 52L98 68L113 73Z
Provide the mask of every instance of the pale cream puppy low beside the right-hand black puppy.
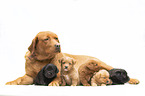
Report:
M107 84L112 84L112 81L109 79L109 73L106 70L96 72L91 79L92 86L106 86Z

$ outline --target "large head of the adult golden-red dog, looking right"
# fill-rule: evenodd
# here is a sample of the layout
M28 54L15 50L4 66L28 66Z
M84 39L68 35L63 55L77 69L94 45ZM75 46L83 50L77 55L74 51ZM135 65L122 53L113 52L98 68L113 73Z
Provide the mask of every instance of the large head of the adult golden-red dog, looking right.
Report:
M58 36L50 31L39 32L28 50L38 60L53 58L61 51Z

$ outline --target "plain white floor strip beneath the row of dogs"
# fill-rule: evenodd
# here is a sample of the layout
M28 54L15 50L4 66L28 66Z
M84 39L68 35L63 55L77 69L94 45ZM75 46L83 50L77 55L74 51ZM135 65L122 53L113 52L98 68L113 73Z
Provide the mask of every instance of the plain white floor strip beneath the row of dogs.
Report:
M13 96L145 96L144 86L139 85L112 85L97 87L53 87L34 85L5 85L0 86L1 95Z

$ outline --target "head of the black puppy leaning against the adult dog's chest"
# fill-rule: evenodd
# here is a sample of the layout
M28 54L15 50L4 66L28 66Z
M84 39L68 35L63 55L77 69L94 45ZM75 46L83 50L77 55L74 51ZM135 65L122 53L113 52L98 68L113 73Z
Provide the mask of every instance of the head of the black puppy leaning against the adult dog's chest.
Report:
M43 69L43 74L46 78L53 78L59 72L54 64L47 64Z

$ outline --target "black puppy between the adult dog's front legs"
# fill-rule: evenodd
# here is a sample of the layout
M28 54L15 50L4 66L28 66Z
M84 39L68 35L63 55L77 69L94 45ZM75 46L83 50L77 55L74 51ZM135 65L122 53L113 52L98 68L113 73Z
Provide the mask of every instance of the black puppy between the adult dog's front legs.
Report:
M34 84L48 86L48 84L57 76L58 72L59 70L54 64L47 64L34 79Z

